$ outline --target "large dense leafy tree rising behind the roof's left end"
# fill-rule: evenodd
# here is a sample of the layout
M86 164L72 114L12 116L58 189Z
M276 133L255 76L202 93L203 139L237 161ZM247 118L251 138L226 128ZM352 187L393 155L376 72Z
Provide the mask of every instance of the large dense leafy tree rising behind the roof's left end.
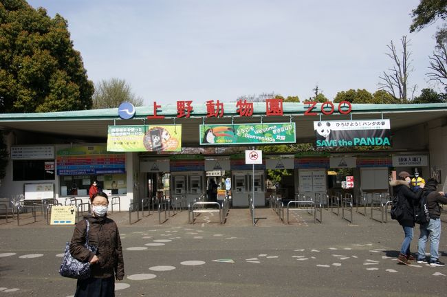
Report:
M63 17L0 2L0 112L89 109L93 92Z

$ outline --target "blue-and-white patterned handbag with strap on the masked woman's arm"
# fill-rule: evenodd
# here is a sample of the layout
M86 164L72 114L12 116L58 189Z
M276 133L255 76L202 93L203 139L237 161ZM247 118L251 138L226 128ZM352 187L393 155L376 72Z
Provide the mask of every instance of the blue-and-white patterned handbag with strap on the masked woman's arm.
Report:
M90 224L89 221L85 220L87 223L87 234L85 239L85 248L87 248L89 251L94 252L96 254L96 251L98 250L95 246L89 245L89 230L90 230ZM65 253L64 258L61 264L61 268L59 268L59 274L61 276L65 276L68 278L78 278L78 279L85 279L90 277L90 263L87 262L81 262L70 254L70 243L67 242L65 245Z

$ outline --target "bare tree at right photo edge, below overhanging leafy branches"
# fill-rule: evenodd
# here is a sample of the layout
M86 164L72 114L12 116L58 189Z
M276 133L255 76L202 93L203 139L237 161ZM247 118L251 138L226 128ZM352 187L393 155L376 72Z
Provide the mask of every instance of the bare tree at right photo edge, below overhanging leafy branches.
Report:
M428 57L430 58L428 69L432 69L433 72L428 72L426 76L429 80L441 83L441 85L444 85L444 89L447 89L447 47L445 41L446 39L438 39L433 56Z

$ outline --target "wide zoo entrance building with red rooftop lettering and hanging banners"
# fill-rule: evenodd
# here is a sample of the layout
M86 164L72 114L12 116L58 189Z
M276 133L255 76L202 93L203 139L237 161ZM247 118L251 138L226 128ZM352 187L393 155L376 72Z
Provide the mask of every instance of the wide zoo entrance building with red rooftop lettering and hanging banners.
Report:
M135 107L127 119L118 118L116 109L100 114L2 114L0 126L11 154L0 195L32 197L25 184L52 184L52 197L61 203L70 197L87 201L89 184L97 180L111 195L120 195L127 209L132 201L158 195L183 195L186 203L206 198L211 178L222 181L221 190L230 178L229 195L251 192L254 205L265 206L270 195L294 199L298 192L314 195L340 188L342 180L328 175L329 168L352 168L354 197L360 191L388 190L393 170L417 168L422 177L435 175L444 187L447 104L352 104L345 114L337 106L331 111L330 104L319 103L217 103L186 104L193 109L182 112L182 104L154 102ZM243 113L246 109L252 113ZM388 141L390 145L378 151L349 150L354 143ZM256 146L262 151L266 144L300 142L314 142L317 149L288 155L264 152L254 174L243 156L222 153L230 147ZM336 145L348 151L336 152ZM270 169L289 169L292 175L278 185L269 184L265 170ZM212 177L207 174L211 171ZM248 207L248 196L232 203Z

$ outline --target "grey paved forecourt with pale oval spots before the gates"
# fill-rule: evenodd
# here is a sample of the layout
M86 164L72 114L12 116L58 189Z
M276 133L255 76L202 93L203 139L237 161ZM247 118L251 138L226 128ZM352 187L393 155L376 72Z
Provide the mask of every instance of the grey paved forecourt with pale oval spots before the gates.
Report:
M446 296L447 267L397 264L395 221L354 214L349 223L324 210L321 224L301 213L283 225L271 209L255 214L265 217L257 226L247 209L231 209L225 225L206 214L190 225L185 211L161 225L157 214L133 224L128 212L112 214L126 272L116 296ZM0 297L72 296L76 281L57 271L73 227L30 222L0 221Z

